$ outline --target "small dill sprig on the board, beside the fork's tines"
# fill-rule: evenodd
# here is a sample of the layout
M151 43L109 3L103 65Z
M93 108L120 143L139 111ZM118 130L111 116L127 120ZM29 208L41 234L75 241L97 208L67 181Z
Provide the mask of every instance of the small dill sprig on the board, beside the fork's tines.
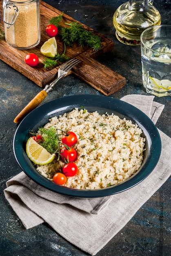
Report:
M58 65L58 62L64 63L65 61L69 61L69 57L65 55L65 50L66 50L66 46L64 44L64 52L62 53L62 55L57 53L56 56L53 58L46 58L44 60L44 68L56 67Z

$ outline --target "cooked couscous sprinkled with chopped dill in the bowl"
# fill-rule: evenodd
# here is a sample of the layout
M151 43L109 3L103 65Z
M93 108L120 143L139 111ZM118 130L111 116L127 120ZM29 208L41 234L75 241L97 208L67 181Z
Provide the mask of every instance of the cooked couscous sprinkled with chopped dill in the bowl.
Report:
M78 142L76 164L79 172L67 177L64 186L75 189L102 189L119 184L131 177L141 166L145 150L142 129L132 121L117 115L73 109L59 117L52 117L44 128L76 133ZM59 168L59 162L36 166L48 179Z

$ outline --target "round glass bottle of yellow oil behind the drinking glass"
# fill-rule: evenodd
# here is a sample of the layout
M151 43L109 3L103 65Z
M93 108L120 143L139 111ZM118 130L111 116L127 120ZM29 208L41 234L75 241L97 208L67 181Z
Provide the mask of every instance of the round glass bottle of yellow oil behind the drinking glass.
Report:
M160 13L153 6L153 0L129 0L121 4L113 15L116 37L126 45L140 45L141 33L160 24Z

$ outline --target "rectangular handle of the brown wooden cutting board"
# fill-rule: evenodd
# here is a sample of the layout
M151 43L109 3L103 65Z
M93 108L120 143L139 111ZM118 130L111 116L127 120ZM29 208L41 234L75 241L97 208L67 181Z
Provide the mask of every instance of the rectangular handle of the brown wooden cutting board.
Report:
M93 58L80 54L77 59L82 62L72 68L72 73L104 95L109 96L126 84L126 79L123 76Z

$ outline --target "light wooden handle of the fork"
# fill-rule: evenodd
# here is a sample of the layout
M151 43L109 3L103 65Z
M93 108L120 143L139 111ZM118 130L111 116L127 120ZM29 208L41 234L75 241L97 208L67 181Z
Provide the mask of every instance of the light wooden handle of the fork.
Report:
M23 108L23 110L16 116L16 118L13 120L14 123L20 123L20 121L27 115L29 112L31 112L33 109L35 109L43 100L47 97L47 92L42 90L39 92L28 104Z

